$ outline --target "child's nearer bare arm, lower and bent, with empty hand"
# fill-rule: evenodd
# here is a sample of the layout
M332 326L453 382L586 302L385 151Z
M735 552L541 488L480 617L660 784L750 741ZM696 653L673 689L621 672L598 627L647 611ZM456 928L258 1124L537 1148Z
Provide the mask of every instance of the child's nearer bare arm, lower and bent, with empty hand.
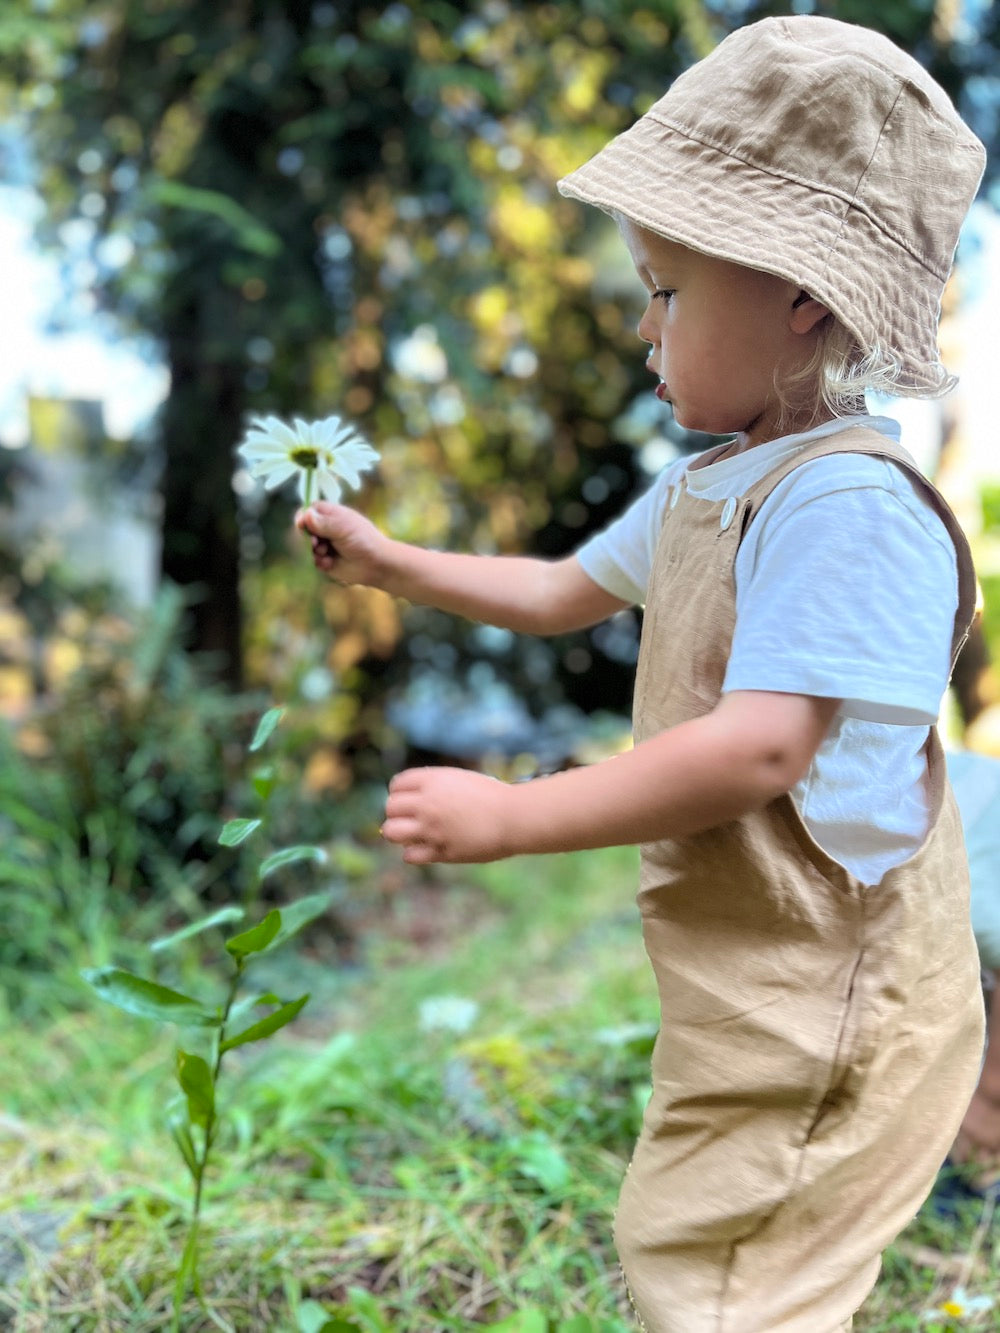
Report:
M420 768L389 784L383 834L404 860L493 861L684 837L788 792L808 770L835 698L739 690L713 712L615 758L532 782Z

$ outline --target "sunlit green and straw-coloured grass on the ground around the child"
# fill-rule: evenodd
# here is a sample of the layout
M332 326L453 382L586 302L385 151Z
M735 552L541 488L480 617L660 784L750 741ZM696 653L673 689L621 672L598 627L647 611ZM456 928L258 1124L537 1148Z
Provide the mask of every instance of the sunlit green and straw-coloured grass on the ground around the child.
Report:
M224 1076L185 1333L312 1333L320 1308L364 1333L627 1333L611 1214L656 1017L635 853L387 884L356 909L360 965L321 940L287 954L313 1001ZM468 1030L425 1030L448 997L477 1004ZM97 1002L4 1024L0 1328L168 1326L188 1208L161 1128L172 1052ZM856 1329L1000 1326L921 1318L960 1284L1000 1296L988 1220L921 1214Z

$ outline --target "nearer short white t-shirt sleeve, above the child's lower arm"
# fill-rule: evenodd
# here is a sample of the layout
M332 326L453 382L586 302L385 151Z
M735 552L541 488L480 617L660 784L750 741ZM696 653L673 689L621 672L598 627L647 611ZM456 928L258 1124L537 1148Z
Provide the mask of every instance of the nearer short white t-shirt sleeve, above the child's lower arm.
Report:
M863 721L932 724L951 670L953 543L903 469L841 459L796 469L751 524L723 688L841 698Z

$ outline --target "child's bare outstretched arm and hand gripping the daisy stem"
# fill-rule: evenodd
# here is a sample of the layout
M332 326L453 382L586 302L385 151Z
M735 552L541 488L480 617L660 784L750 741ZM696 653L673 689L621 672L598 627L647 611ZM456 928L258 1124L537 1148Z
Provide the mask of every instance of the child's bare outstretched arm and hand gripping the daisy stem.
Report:
M393 541L356 511L328 501L300 511L295 521L312 536L316 568L337 583L383 588L504 629L559 635L595 625L628 605L589 579L575 556L535 560L427 551Z

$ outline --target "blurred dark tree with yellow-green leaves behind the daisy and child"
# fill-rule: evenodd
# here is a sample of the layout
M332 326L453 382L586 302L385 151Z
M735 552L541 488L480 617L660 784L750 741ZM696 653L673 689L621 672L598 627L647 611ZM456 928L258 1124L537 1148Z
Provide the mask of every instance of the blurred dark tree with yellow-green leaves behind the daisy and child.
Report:
M20 0L4 11L0 51L31 111L47 233L89 229L105 305L167 359L163 568L204 587L192 645L220 653L229 681L240 678L241 531L244 555L260 547L232 488L248 411L357 420L384 455L369 507L423 543L557 555L621 508L643 480L629 437L656 429L640 407L637 288L608 224L561 200L555 180L725 31L787 8ZM809 8L884 28L992 143L989 7L977 25L948 0L795 5ZM384 659L395 640L380 624ZM455 633L429 613L419 627L428 661ZM352 665L372 666L365 643ZM616 647L600 636L557 647L555 661L493 649L545 697L627 704L621 635ZM468 636L439 660L467 651Z

